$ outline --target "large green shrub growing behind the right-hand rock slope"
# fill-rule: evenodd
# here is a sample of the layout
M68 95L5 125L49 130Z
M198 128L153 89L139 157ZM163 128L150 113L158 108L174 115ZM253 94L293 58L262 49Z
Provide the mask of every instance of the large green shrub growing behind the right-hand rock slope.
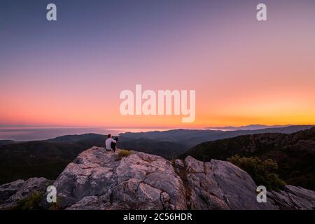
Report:
M286 182L276 175L278 165L274 160L260 160L256 157L241 158L239 155L234 155L228 158L228 161L244 169L258 186L265 186L268 190L279 190L286 185Z

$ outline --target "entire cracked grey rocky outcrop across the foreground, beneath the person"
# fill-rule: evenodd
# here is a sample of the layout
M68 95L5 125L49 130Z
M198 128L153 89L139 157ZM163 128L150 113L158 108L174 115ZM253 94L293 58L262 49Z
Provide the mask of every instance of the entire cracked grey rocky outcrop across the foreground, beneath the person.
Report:
M118 153L93 147L80 153L59 175L59 209L314 209L315 193L286 186L256 200L256 185L244 170L230 162L200 162L188 156L174 163L158 155ZM32 179L29 179L32 180ZM42 179L43 183L45 179ZM15 183L16 182L16 183ZM8 203L2 189L22 190L17 181L0 186L0 204ZM28 181L25 181L27 183ZM14 187L16 186L16 187ZM26 186L26 185L25 185ZM20 189L20 190L19 190ZM34 188L29 188L31 189ZM10 192L10 191L8 191ZM9 193L8 193L9 194ZM12 197L14 198L14 197ZM41 202L48 209L45 195Z

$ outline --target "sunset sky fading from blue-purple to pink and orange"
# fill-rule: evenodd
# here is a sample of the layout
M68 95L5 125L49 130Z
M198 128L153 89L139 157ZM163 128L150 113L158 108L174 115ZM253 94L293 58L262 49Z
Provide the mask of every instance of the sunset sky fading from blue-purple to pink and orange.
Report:
M0 125L315 124L314 40L314 0L1 0ZM136 84L196 90L195 123L121 116Z

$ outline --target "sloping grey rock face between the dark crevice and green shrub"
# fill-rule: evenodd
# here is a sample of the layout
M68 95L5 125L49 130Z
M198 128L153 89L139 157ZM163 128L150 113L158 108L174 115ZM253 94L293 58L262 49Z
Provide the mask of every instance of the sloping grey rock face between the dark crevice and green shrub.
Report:
M200 162L188 156L178 171L186 179L190 209L276 209L257 202L251 176L230 162Z

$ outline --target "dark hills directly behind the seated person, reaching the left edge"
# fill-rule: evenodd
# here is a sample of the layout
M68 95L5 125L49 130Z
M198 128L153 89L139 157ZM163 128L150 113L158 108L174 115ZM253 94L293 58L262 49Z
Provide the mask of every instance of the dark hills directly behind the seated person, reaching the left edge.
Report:
M79 153L92 146L102 147L105 140L106 136L102 134L82 134L45 141L21 143L6 141L6 144L0 145L0 183L28 179L32 176L56 179ZM176 158L187 149L181 144L169 141L125 137L119 138L118 146L161 155L165 158Z

